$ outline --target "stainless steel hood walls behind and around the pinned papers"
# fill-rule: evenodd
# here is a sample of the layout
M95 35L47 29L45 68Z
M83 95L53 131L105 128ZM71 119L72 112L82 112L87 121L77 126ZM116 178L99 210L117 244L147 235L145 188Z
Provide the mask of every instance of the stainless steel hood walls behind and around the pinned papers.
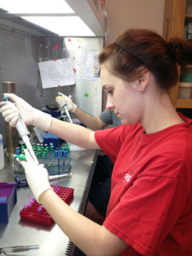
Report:
M102 38L71 38L72 42L81 42L80 50L66 45L63 37L34 37L18 30L5 29L0 26L0 84L3 81L15 82L15 93L34 108L44 108L46 104L55 104L55 96L61 91L72 95L73 101L85 112L98 115L102 112L102 91L99 80L96 82L83 80L82 59L84 52L102 49ZM55 44L58 48L55 50ZM79 54L80 53L80 54ZM61 88L42 89L38 70L38 61L49 61L65 57L73 59L77 69L76 84ZM80 61L79 61L80 60ZM98 86L97 86L98 85ZM85 97L84 94L89 94ZM3 99L3 89L0 86L0 101ZM0 133L5 140L5 124L0 114Z

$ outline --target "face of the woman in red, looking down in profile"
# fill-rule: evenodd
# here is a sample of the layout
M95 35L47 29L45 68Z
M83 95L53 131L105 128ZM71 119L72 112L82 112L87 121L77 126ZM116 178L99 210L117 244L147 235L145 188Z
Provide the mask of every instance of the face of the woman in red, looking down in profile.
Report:
M108 65L108 62L101 65L102 88L108 95L106 108L113 110L122 124L136 125L142 113L141 96L138 90L134 89L138 81L125 82L110 73Z

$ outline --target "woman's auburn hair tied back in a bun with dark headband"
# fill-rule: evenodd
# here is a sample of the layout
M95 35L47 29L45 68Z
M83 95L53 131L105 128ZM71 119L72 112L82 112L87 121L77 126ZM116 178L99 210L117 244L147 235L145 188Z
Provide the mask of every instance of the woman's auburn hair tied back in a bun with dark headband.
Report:
M138 79L147 69L160 88L168 90L177 83L177 66L192 64L192 41L171 38L167 42L156 32L129 29L102 49L100 65L105 61L111 73L127 81Z

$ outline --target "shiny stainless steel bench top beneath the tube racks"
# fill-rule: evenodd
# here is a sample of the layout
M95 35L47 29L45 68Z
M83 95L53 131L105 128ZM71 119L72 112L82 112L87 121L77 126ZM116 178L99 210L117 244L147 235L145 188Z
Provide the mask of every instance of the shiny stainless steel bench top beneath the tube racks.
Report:
M74 189L73 200L69 203L75 211L84 213L91 178L96 165L97 150L78 150L71 152L71 177L50 181L51 185ZM15 183L14 166L7 161L0 171L1 183ZM29 201L32 191L28 186L17 189L17 202L9 216L9 223L0 223L0 247L38 245L38 250L25 252L32 256L73 255L74 245L60 230L57 224L44 225L20 219L20 210ZM21 255L23 253L17 253Z

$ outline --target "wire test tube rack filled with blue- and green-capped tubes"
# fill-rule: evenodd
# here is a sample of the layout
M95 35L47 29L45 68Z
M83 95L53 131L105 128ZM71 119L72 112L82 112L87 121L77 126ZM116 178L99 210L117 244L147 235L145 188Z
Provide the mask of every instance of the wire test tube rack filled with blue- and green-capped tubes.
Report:
M33 145L33 148L35 146ZM41 146L41 150L33 150L38 157L38 163L44 164L44 167L48 170L49 175L65 174L71 171L70 165L71 157L69 148L51 148L52 145ZM45 150L46 148L46 150ZM40 148L39 148L40 149ZM22 148L21 148L22 150ZM18 153L17 153L18 154ZM15 174L25 174L23 166L15 160Z

